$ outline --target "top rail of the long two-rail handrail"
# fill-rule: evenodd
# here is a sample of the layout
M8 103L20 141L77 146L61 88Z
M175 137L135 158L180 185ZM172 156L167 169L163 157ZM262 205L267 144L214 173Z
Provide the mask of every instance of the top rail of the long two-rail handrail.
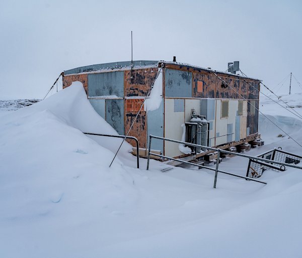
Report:
M253 159L253 160L260 160L260 161L264 161L264 162L268 162L268 163L274 163L274 164L279 164L279 165L283 165L283 166L287 166L287 167L291 167L291 168L302 169L302 167L291 165L291 164L288 164L288 163L282 163L282 162L278 162L278 161L263 159L263 158L259 158L259 157L254 157L254 156L250 156L250 155L245 155L245 154L237 153L237 152L229 152L229 151L225 151L225 150L221 150L221 149L216 149L216 148L212 148L212 147L208 147L208 146L186 143L186 142L177 141L177 140L173 140L173 139L169 139L169 138L164 138L164 137L159 137L159 136L150 135L150 137L155 138L155 139L161 139L161 140L173 142L173 143L185 144L185 145L193 146L193 147L206 148L208 150L212 150L212 151L216 151L216 152L220 151L221 153L231 154L231 155L235 155L235 156L239 156L239 157L244 157L244 158L249 158L249 159Z

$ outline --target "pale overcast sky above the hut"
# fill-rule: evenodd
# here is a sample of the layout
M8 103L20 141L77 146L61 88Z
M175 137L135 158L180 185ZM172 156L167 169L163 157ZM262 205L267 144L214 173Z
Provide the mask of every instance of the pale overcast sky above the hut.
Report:
M131 30L133 60L240 61L272 89L290 72L302 83L301 26L299 0L0 0L0 99L42 98L64 70L130 60Z

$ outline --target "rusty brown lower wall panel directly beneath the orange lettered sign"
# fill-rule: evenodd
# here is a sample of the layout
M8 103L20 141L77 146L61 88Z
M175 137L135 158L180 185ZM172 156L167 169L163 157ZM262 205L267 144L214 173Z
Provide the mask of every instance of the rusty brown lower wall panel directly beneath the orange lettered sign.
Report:
M125 113L125 132L128 132L137 112L126 112ZM146 126L146 112L140 111L136 121L134 122L130 132L130 136L137 138L139 147L146 148L147 142L147 126ZM131 144L131 142L129 141Z

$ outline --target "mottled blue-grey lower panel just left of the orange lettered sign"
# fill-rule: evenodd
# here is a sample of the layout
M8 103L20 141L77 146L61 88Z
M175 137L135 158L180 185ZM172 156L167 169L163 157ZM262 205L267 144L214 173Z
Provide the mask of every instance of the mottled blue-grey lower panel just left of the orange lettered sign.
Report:
M125 134L123 99L106 99L106 121L119 135Z

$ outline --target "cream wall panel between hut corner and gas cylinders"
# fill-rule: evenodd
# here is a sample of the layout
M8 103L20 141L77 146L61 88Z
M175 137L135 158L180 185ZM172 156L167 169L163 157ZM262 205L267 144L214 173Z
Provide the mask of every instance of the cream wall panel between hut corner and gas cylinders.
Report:
M174 99L165 98L165 138L181 141L185 123L185 112L174 112ZM178 157L184 155L180 152L177 143L165 141L165 155Z

